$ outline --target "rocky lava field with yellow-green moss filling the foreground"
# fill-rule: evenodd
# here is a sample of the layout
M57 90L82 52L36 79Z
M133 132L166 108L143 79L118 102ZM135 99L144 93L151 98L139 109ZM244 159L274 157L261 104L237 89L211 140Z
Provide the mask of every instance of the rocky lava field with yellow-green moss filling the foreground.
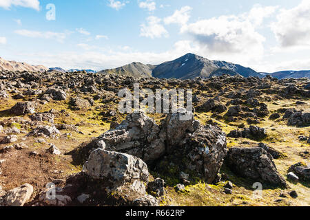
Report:
M119 113L134 83L195 111ZM309 83L0 72L0 204L309 206Z

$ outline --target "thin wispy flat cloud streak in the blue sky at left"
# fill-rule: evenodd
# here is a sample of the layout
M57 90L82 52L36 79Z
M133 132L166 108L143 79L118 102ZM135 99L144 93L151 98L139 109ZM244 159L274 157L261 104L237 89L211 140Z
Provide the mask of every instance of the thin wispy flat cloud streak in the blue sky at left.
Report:
M71 32L39 32L32 30L15 30L16 34L21 36L28 36L31 38L41 38L41 39L54 39L59 42L63 42L63 40L71 34Z

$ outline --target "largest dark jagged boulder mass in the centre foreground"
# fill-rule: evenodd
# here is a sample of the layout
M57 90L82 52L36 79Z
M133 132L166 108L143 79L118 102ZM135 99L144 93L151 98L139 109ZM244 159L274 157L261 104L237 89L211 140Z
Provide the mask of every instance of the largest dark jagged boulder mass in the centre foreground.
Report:
M225 133L216 126L200 125L186 111L167 114L160 126L141 112L132 113L116 129L101 135L96 146L101 141L107 151L134 155L163 172L169 170L166 163L173 162L179 173L187 170L190 178L209 183L227 153Z

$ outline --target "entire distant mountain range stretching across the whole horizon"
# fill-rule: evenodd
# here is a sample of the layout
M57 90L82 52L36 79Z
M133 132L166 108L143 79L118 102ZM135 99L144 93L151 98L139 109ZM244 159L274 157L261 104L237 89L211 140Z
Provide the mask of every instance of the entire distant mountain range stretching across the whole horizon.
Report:
M63 69L61 67L47 68L43 65L29 65L16 61L6 61L0 57L0 71L28 71L28 72L81 72L96 73L92 69ZM211 61L196 54L185 54L174 61L168 61L159 65L145 65L134 62L115 69L104 69L99 74L118 74L123 76L134 76L136 78L178 78L191 79L196 77L210 78L212 76L240 75L244 77L254 76L263 78L271 75L275 78L310 78L310 70L303 71L281 71L275 73L256 72L254 69L242 67L242 65L225 61Z

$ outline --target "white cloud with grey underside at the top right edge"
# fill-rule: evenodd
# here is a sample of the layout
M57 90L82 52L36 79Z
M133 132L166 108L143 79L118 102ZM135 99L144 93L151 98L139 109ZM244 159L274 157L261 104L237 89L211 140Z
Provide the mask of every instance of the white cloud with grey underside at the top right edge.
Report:
M282 47L310 45L310 1L303 0L296 8L282 9L271 29Z

